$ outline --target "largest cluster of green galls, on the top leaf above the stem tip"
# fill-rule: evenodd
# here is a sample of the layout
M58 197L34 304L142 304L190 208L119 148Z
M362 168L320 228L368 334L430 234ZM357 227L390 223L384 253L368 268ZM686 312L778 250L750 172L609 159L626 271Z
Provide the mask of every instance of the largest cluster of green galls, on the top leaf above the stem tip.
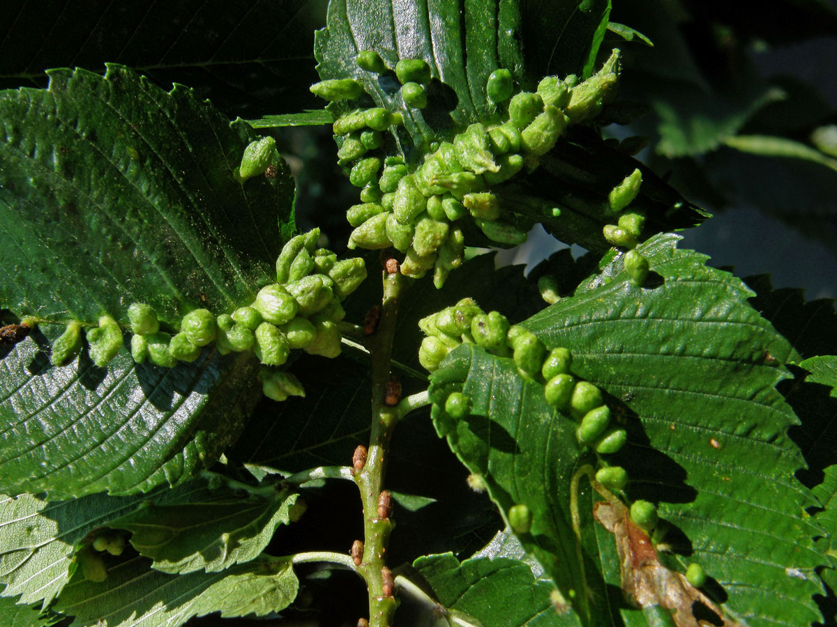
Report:
M356 60L367 72L389 72L380 55L371 50L357 54ZM402 84L403 106L424 108L429 65L423 59L402 59L395 74ZM536 92L515 93L511 72L497 69L490 74L485 91L496 105L498 122L475 123L449 141L434 141L424 162L414 168L400 157L372 155L383 145L382 131L403 122L400 113L377 107L342 115L334 123L334 134L341 137L337 156L341 165L352 166L352 184L362 187L362 203L347 212L354 227L349 247L394 247L405 254L401 273L420 278L432 269L434 285L440 288L450 271L463 262L465 238L457 226L462 218L470 217L494 242L516 245L526 241L526 232L516 227L492 189L524 169L536 168L539 157L552 149L568 125L597 116L614 97L618 76L619 50L589 79L579 82L574 75L547 76ZM324 80L312 85L311 91L332 101L363 94L362 85L354 79ZM631 185L614 190L612 204L623 203L619 211L639 191L639 181ZM633 229L635 245L644 218L632 215L633 222L620 218L619 226L608 225L617 229L613 233L605 227L606 236ZM616 239L619 242L608 237L619 246L628 242L626 237Z

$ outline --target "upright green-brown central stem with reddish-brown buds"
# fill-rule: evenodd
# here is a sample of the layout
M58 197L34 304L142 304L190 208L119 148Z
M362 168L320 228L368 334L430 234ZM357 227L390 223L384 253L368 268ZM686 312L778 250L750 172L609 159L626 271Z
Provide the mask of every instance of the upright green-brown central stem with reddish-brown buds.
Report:
M389 459L389 442L398 423L396 407L384 404L384 394L390 376L395 320L398 301L408 286L400 273L383 273L383 302L381 319L375 333L367 336L366 344L372 360L372 429L367 448L367 461L357 472L355 482L363 504L363 558L357 571L366 580L369 589L370 627L388 627L393 624L395 599L384 594L382 569L386 566L384 554L393 524L388 517L377 516L377 501L383 489L383 477Z

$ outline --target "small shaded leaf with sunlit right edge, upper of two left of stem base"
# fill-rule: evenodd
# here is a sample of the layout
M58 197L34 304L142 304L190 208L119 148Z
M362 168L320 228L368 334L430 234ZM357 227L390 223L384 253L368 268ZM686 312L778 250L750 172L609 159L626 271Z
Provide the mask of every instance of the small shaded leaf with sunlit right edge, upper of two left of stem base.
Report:
M247 490L244 497L232 486L210 486L162 504L149 498L108 524L130 531L131 545L163 573L223 570L258 557L276 529L290 523L299 496L274 486L235 487Z

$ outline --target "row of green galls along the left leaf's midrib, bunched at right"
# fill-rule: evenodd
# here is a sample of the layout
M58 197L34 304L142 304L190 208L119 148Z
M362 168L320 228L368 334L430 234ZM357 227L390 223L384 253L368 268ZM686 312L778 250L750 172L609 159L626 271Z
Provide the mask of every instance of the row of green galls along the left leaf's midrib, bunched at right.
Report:
M276 283L259 290L253 303L232 314L215 316L208 309L190 311L177 333L160 328L157 313L145 303L132 303L128 320L133 333L131 356L137 363L171 368L180 361L193 362L201 349L215 343L219 354L253 350L265 366L281 366L291 349L336 357L341 351L337 323L346 315L341 301L366 278L362 258L337 261L336 254L317 248L320 230L292 237L276 261ZM82 326L67 324L54 341L52 361L63 365L82 345ZM86 331L90 359L105 366L122 347L122 329L110 315ZM299 380L290 373L264 369L264 393L275 400L304 395Z

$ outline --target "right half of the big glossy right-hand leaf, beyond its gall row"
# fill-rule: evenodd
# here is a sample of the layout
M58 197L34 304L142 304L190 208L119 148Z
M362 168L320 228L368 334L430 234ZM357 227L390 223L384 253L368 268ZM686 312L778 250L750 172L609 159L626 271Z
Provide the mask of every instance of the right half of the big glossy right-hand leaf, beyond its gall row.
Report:
M647 287L631 285L617 257L526 327L572 349L573 373L624 404L629 444L614 462L629 470L629 494L660 501L690 560L729 595L724 608L750 625L809 624L826 558L804 512L815 502L793 477L804 466L786 434L797 418L774 389L785 371L770 365L792 349L740 280L677 239L639 247L658 275Z

